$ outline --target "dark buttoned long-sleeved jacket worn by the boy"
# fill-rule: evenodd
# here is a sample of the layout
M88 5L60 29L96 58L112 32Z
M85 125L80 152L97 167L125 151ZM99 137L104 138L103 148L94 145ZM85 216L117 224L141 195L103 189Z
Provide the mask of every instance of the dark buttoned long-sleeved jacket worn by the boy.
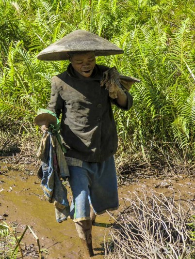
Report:
M52 77L47 109L55 112L57 117L62 113L60 133L68 157L101 162L117 150L118 138L111 107L111 101L115 103L115 100L111 100L105 87L100 86L107 69L96 65L91 77L81 79L69 64L67 71ZM129 110L132 97L127 91L126 94L128 105L123 109Z

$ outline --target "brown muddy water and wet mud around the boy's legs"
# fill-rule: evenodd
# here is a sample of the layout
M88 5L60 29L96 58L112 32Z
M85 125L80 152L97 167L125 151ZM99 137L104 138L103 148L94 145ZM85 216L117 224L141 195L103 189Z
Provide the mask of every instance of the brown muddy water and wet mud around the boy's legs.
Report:
M71 200L70 189L68 186L66 188ZM119 187L119 210L123 209L124 198L128 198L133 192L141 195L150 188L166 195L173 188L176 193L180 191L185 199L192 199L195 194L194 180L186 175L174 176L169 180L143 178L129 186ZM36 176L36 168L20 172L9 170L7 164L0 164L0 222L3 220L7 224L16 222L20 232L26 225L32 227L40 244L49 251L48 255L43 254L45 259L84 259L74 223L70 219L60 224L56 222L54 206L45 199L40 180ZM97 224L92 229L96 254L94 259L104 258L104 240L108 238L108 228L112 222L107 213L97 216ZM24 236L24 243L36 245L29 231ZM27 258L33 258L33 255L26 256L25 259Z

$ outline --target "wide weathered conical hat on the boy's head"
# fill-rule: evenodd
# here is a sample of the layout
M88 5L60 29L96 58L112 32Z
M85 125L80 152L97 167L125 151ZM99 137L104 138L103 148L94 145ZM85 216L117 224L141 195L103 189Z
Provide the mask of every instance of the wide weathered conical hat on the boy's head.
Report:
M113 43L86 30L75 30L61 40L42 50L38 60L67 60L68 52L94 51L95 56L122 54L124 51Z

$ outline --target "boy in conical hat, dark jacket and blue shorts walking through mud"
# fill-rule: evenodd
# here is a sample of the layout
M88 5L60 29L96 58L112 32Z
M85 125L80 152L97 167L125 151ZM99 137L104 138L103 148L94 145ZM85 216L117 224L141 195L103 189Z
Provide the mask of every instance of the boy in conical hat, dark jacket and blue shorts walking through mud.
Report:
M39 53L38 59L70 61L65 72L52 77L47 109L57 117L62 113L60 134L73 194L70 217L84 245L85 258L91 258L90 205L96 214L118 208L114 165L118 139L111 102L129 110L132 97L128 91L121 91L120 84L115 99L100 86L109 68L97 65L96 56L122 53L121 49L88 31L77 30L67 36ZM119 82L119 74L113 76L118 76ZM48 127L49 122L42 130Z

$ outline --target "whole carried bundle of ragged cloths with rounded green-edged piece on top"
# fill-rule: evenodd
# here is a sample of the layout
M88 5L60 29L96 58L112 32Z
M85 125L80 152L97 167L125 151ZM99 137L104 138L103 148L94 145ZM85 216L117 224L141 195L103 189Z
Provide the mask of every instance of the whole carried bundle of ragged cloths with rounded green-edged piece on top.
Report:
M69 176L69 171L65 160L66 151L58 133L60 122L55 113L39 109L34 119L35 124L42 125L46 120L50 122L50 126L44 133L37 152L42 161L37 176L41 180L41 187L47 200L55 206L56 221L61 223L70 213L67 190L63 184L63 180Z

